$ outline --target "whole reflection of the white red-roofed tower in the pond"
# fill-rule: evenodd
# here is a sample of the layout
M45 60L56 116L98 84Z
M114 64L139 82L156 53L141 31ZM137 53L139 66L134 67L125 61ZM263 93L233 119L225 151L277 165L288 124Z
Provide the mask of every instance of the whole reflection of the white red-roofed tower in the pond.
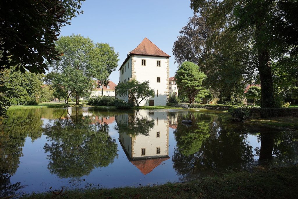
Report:
M116 117L119 141L128 160L144 175L169 159L169 126L167 112L135 111ZM152 123L152 125L148 125ZM122 125L133 125L140 132L132 132ZM122 129L121 129L122 128ZM122 131L122 130L125 131ZM142 134L143 133L143 134ZM145 135L144 135L145 134Z

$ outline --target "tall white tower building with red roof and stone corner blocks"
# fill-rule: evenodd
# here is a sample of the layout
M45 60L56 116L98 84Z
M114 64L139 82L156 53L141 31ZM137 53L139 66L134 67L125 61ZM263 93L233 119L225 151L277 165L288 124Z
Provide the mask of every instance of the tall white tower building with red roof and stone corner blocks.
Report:
M142 101L140 106L164 106L169 97L169 58L149 39L145 38L134 50L128 52L127 58L119 68L119 83L130 80L149 81L154 89L154 98ZM117 93L116 93L117 95ZM128 101L128 96L116 96Z

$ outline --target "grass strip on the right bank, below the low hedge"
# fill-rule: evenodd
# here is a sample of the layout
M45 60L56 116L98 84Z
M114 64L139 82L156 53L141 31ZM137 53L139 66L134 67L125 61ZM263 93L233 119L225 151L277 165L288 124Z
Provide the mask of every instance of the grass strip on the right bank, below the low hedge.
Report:
M272 127L298 127L298 118L294 117L250 119L249 122Z

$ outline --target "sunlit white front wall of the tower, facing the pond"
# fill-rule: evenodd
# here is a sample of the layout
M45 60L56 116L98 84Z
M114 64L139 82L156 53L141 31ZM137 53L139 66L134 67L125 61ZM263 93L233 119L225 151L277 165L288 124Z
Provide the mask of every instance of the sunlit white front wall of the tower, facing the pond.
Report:
M145 55L133 55L135 79L139 82L150 81L150 87L154 89L155 96L150 98L154 100L155 106L165 106L167 104L168 91L168 58ZM146 66L142 66L142 59L146 60ZM157 67L157 60L161 61L161 67ZM160 77L160 83L157 83L157 77ZM159 96L157 97L157 90ZM146 101L142 101L140 106L148 106Z

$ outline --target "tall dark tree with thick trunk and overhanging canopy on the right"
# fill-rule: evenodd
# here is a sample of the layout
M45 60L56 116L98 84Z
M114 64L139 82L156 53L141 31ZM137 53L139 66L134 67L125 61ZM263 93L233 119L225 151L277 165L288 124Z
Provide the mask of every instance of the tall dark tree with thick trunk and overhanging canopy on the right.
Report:
M247 45L252 47L262 87L261 106L274 107L271 60L298 52L298 30L294 28L298 25L294 11L298 2L191 0L190 6L195 12L205 11L212 26L235 33L240 41L249 35L251 41Z

